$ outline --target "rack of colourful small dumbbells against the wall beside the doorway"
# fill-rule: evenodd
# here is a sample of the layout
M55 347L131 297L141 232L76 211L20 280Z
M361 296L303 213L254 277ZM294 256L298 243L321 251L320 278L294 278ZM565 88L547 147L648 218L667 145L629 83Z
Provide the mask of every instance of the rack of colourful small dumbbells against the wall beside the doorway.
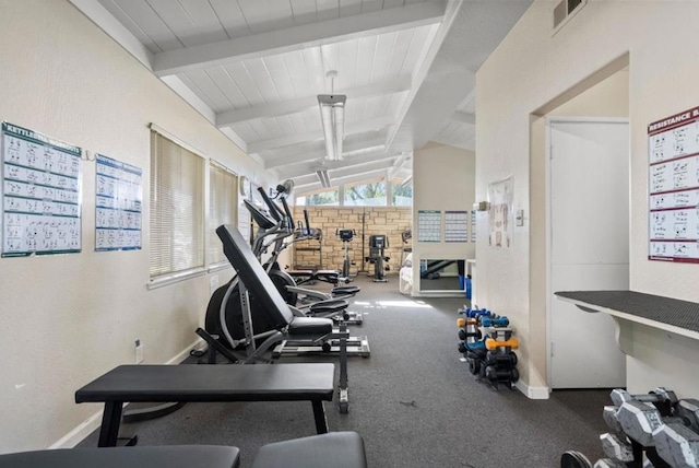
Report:
M499 384L512 389L519 379L517 354L512 349L519 343L512 337L509 319L487 309L463 308L459 313L463 315L458 320L459 351L469 363L469 372L496 389Z

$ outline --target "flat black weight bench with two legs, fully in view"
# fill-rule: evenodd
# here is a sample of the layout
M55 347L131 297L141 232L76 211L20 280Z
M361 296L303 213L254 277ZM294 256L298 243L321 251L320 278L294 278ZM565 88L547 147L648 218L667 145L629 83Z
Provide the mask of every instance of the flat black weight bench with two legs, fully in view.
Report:
M332 363L274 365L121 365L75 391L104 402L99 447L117 445L126 402L310 401L316 431L328 432L323 401L334 393Z

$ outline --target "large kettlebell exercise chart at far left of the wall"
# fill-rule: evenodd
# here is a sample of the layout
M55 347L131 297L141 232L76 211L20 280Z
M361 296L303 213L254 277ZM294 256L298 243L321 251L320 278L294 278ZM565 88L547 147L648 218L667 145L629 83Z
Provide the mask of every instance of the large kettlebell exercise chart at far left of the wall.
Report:
M2 122L2 257L82 248L79 147Z

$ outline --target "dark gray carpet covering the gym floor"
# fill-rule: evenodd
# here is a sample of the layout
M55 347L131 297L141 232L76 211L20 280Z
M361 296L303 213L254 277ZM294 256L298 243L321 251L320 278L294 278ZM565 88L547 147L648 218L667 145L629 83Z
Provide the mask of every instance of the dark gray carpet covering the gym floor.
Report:
M362 434L369 466L557 467L567 449L593 461L603 456L608 389L531 400L477 382L457 350L464 300L406 297L398 277L389 279L355 280L362 293L353 308L367 315L351 329L369 337L371 356L350 359L350 413L340 414L336 401L325 405L331 431ZM141 445L235 445L245 468L261 445L312 435L315 425L308 402L189 403L157 420L122 424L121 433L138 433ZM96 441L94 433L81 445Z

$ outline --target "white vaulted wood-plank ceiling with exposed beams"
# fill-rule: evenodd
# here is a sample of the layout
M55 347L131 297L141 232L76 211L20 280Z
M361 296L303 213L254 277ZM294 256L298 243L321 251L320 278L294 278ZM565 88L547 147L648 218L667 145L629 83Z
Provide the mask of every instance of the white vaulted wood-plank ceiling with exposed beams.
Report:
M297 192L318 169L405 179L429 140L474 150L475 72L531 1L71 0ZM331 92L347 95L336 162L317 101Z

